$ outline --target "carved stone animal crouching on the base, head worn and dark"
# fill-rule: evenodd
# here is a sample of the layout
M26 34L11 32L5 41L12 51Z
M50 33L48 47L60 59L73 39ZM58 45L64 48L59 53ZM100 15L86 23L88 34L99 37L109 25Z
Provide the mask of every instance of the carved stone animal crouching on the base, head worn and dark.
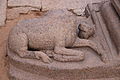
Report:
M80 36L86 39L78 37L78 29ZM42 59L46 63L52 60L42 50L53 50L53 57L58 61L81 61L84 53L69 48L87 46L103 55L96 43L87 40L93 34L94 27L86 23L77 24L75 16L54 16L51 13L19 22L10 32L8 48L22 58Z

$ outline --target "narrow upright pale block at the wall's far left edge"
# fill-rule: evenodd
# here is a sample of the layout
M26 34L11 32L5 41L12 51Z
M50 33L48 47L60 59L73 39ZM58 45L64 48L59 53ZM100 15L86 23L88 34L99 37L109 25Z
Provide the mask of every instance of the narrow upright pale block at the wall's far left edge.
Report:
M7 0L0 0L0 26L5 24Z

